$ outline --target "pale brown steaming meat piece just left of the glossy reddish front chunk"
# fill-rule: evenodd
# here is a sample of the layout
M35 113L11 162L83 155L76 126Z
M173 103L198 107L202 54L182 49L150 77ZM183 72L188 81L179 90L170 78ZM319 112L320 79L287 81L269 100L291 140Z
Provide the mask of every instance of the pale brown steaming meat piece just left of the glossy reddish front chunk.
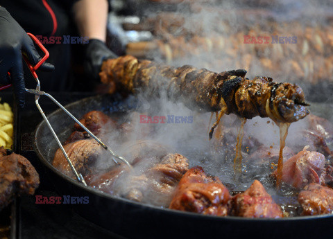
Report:
M135 167L135 166L134 166ZM189 168L188 159L181 154L167 154L154 166L133 174L126 179L121 195L129 200L169 206L173 191Z

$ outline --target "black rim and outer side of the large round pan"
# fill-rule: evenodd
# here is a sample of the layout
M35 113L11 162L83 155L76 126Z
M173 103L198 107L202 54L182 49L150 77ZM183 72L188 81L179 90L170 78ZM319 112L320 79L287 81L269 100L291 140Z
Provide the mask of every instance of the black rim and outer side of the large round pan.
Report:
M133 102L133 100L132 100ZM130 101L111 96L85 98L67 105L80 118L92 109L104 112L126 112ZM69 136L74 122L61 109L49 115L49 121L60 140ZM35 131L35 151L49 173L60 195L88 196L89 204L76 204L74 209L101 227L129 238L299 238L333 235L333 215L282 219L246 219L215 217L185 213L155 206L146 206L119 197L112 197L94 188L83 186L53 168L51 161L57 149L56 141L43 121Z

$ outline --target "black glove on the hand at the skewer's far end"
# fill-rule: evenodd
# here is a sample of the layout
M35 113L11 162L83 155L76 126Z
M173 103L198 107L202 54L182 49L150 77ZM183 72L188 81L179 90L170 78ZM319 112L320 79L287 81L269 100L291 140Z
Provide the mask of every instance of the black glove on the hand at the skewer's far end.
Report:
M99 72L101 71L103 61L117 57L101 40L89 39L89 43L85 47L84 63L87 75L94 80L99 79Z

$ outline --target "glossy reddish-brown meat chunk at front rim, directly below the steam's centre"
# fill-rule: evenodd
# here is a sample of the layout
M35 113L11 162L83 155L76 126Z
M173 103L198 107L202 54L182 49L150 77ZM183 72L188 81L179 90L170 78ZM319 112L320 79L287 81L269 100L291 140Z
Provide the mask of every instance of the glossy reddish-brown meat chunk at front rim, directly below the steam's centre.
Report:
M231 196L217 177L205 174L196 166L188 170L180 180L170 209L225 216L230 213Z

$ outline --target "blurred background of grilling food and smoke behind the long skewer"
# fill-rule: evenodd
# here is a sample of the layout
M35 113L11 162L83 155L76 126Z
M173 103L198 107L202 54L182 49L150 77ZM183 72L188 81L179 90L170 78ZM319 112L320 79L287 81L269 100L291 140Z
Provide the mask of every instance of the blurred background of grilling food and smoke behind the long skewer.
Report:
M330 100L332 1L113 0L110 6L108 46L119 55L216 72L246 69L248 78L297 82L307 100Z

